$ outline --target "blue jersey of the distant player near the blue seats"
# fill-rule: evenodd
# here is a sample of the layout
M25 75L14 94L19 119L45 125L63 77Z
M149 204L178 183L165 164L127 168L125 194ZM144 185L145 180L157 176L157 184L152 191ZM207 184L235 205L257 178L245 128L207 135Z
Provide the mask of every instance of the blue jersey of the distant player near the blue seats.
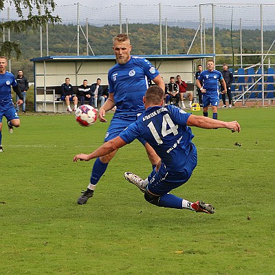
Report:
M223 79L221 72L214 71L210 72L208 70L201 72L201 74L197 78L202 83L203 89L206 89L206 94L216 93L219 91L219 80Z

